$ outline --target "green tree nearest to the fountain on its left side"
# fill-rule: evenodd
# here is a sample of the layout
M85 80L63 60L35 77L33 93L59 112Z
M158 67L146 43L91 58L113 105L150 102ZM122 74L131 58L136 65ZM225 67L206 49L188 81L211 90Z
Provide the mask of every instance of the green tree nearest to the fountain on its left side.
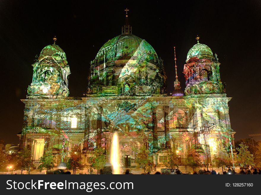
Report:
M98 146L93 150L93 157L90 157L91 167L97 169L97 174L98 170L106 163L106 155L104 153L105 150Z

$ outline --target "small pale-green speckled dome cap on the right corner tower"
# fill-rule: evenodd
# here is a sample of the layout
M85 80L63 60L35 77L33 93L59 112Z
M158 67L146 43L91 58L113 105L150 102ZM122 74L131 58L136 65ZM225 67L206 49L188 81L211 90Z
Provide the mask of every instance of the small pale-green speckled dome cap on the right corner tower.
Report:
M196 57L200 55L213 56L213 53L207 45L202 43L197 43L188 52L187 60L192 57Z

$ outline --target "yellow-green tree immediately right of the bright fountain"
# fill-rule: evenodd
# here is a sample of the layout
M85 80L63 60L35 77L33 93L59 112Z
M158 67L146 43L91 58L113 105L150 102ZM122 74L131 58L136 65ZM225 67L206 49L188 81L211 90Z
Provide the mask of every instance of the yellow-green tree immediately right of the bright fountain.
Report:
M140 152L137 154L136 163L144 169L144 172L146 167L153 167L153 159L149 156L149 150L146 149L146 146L141 146Z

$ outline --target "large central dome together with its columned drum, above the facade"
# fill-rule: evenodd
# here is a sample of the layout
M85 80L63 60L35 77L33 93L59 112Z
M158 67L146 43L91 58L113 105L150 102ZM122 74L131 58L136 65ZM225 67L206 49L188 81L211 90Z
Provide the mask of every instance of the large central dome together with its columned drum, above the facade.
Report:
M91 61L88 80L90 94L150 95L165 93L166 75L163 61L153 47L144 39L123 32L98 51Z

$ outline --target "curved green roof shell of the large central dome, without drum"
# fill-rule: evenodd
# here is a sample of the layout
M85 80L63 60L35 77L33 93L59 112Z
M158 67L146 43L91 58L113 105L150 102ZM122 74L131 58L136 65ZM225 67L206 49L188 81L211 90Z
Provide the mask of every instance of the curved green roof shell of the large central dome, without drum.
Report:
M93 64L100 65L112 60L137 59L158 62L159 58L153 47L144 39L132 34L122 34L107 41L98 51Z

